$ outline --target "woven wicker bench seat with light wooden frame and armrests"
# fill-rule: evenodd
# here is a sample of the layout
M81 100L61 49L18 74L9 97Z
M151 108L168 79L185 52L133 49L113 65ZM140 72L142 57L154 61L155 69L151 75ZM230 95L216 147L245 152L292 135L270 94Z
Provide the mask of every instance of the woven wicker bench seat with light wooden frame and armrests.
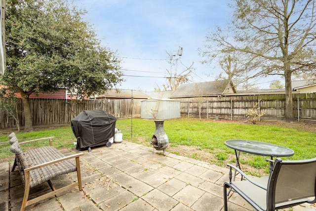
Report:
M66 190L74 189L79 186L79 190L82 190L81 174L80 174L80 161L79 156L83 153L78 153L70 156L65 156L53 146L51 146L53 137L40 138L36 140L30 140L25 142L18 142L18 139L14 134L9 135L9 143L11 144L10 150L15 153L15 161L12 171L18 167L24 184L24 197L21 205L21 211L24 211L26 206L40 202L41 200L54 197ZM22 151L20 144L30 143L40 140L49 140L49 146ZM71 161L75 160L75 162ZM65 187L56 189L51 182L51 179L55 176L62 175L77 171L78 181ZM52 189L52 192L48 192L35 199L28 200L31 187L35 187L41 183L47 182Z

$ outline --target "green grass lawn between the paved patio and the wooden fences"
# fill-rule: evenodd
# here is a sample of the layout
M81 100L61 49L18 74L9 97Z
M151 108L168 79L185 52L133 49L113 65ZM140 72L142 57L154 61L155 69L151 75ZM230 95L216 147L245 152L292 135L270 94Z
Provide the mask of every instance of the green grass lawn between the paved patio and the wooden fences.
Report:
M123 140L146 146L155 132L155 123L152 120L124 119L118 120L116 127L122 131ZM264 141L294 150L294 156L285 160L302 160L316 157L316 124L283 122L260 122L256 125L237 121L213 121L195 118L181 118L164 122L164 131L169 137L169 146L166 151L203 160L218 166L226 163L235 163L235 151L225 146L227 139L248 139ZM2 131L0 142L8 140L7 134L11 131ZM19 141L26 141L41 137L55 136L53 146L56 148L73 148L76 141L70 126L39 128L33 132L17 133ZM47 143L28 144L27 148L47 146ZM27 149L23 145L22 149ZM0 159L13 160L9 145L0 145ZM157 151L156 151L157 152ZM158 151L159 153L161 151ZM243 169L253 175L268 173L267 157L242 153L240 162Z

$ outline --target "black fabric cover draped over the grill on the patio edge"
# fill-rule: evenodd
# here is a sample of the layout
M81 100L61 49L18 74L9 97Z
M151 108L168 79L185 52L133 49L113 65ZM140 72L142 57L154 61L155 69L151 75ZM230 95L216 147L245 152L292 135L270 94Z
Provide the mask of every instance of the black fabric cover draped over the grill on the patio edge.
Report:
M106 144L115 133L117 119L102 111L82 111L71 121L71 128L77 137L77 150Z

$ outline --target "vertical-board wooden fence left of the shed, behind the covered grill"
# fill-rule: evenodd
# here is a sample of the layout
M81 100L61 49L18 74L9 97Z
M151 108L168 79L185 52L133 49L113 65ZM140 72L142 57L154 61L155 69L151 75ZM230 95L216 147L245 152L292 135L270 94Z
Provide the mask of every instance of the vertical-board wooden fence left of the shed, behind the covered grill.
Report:
M140 99L98 99L98 100L64 100L64 99L29 99L33 125L70 124L83 110L104 110L119 118L140 117ZM24 126L22 99L17 104L20 127ZM14 118L8 112L0 112L0 128L16 127Z

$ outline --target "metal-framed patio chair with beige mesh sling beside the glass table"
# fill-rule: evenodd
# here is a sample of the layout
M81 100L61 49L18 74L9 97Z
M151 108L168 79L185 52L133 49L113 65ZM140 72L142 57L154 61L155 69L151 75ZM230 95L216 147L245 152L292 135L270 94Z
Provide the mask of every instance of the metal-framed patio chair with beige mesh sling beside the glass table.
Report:
M276 158L270 176L249 178L237 167L230 167L230 182L224 183L224 210L227 208L227 188L238 193L257 211L275 211L303 203L316 203L316 158L282 161ZM246 180L232 181L232 169Z

